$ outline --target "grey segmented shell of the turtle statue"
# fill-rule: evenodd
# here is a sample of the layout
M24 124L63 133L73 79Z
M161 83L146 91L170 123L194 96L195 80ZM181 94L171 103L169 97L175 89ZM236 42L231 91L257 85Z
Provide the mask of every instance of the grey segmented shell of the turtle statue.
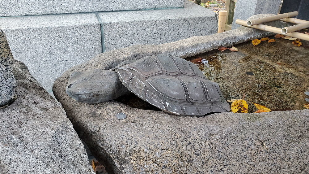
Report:
M153 55L115 68L120 81L139 98L176 115L230 111L217 83L179 57Z

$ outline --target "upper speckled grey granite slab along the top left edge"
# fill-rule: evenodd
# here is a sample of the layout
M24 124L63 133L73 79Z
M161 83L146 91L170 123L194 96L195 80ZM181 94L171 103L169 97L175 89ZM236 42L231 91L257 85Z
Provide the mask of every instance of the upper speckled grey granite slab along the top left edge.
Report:
M184 7L184 0L2 0L0 16L124 11Z

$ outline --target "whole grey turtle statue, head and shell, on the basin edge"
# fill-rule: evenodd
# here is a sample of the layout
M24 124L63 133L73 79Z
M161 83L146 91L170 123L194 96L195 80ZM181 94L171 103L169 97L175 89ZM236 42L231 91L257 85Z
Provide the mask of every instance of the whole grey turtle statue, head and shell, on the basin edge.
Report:
M217 83L192 62L168 55L128 60L111 70L73 72L66 87L67 94L85 103L113 100L130 91L176 115L230 111Z

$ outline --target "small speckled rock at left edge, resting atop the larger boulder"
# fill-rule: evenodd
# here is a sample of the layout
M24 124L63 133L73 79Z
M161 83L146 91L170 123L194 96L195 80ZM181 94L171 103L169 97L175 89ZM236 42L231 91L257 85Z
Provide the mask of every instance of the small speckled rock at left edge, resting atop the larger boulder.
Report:
M6 35L0 28L0 108L14 100L16 81L12 73L13 61Z

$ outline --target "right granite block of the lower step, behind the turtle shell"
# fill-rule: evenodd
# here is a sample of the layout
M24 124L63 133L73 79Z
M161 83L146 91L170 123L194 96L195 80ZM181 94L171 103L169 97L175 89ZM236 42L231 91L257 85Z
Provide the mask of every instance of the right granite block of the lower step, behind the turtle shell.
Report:
M99 13L107 51L136 44L161 44L217 33L215 12L185 1L184 8Z

